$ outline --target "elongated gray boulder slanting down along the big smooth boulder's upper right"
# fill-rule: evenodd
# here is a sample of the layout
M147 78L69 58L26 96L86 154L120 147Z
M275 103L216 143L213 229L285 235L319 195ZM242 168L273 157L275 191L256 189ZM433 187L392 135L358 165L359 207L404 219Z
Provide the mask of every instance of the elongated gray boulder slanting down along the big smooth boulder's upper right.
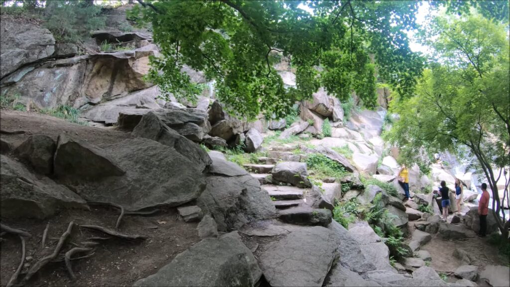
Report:
M206 171L212 161L196 143L166 126L153 112L146 113L131 133L133 136L156 140L188 158L200 171Z

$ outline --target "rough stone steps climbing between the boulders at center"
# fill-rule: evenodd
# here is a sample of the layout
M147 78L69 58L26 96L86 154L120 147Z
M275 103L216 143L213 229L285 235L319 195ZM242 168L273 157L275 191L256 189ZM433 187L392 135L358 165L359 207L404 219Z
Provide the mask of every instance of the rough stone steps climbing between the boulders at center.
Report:
M244 164L243 167L254 178L260 181L261 187L267 191L273 204L278 209L306 206L305 193L307 188L290 185L275 185L271 182L271 171L274 165L282 161L301 161L301 156L292 151L297 146L270 146L267 157L259 157L259 164Z

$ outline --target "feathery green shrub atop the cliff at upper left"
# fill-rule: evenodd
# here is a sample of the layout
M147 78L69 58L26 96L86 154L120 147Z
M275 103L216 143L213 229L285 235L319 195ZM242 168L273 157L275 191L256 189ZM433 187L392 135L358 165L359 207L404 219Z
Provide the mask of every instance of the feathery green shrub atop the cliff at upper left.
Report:
M44 26L52 32L57 42L79 42L89 37L89 32L105 27L101 7L86 5L81 1L55 1ZM48 9L48 8L46 8Z

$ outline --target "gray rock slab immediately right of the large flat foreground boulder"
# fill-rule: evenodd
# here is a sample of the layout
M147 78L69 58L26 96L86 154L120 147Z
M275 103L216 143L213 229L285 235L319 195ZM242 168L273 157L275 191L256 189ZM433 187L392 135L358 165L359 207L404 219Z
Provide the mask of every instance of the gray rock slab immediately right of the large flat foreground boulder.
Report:
M374 262L372 261L372 257L365 255L367 246L355 240L351 236L351 232L349 230L345 229L340 223L336 221L332 221L327 228L335 232L335 236L340 242L340 245L338 246L340 259L339 264L337 264L337 266L346 266L350 270L358 273L364 273L376 269L374 263L379 261ZM362 230L358 231L361 232ZM370 230L366 229L366 231L370 233ZM374 244L380 243L380 239L379 241L375 239L373 240L373 242L370 242L369 244L372 243Z

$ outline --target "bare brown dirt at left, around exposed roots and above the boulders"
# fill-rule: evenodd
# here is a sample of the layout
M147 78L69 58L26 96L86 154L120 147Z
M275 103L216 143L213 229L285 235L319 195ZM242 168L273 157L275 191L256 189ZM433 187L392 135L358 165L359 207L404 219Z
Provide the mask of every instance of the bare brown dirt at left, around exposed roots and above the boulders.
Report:
M23 130L23 134L2 134L2 139L14 147L32 134L45 134L57 139L62 132L75 135L93 145L104 147L129 137L129 133L114 129L81 126L63 119L18 111L0 111L0 127L2 130ZM63 210L47 220L34 219L2 219L3 224L14 228L22 228L32 237L27 240L27 254L24 272L34 265L41 257L53 252L56 243L66 230L70 221L79 224L96 224L113 229L118 217L115 208L92 206L86 210ZM168 264L175 255L183 252L199 241L196 223L185 223L176 220L175 209L162 211L158 214L142 216L125 216L120 231L130 234L148 236L145 241L130 242L111 238L101 242L90 258L72 261L72 268L77 281L71 282L64 262L51 262L36 274L28 286L131 286L136 280L154 274ZM46 248L41 248L42 233L49 222ZM98 231L91 231L75 226L63 251L74 247L87 237L101 236ZM0 242L0 285L5 286L20 262L21 248L17 236L6 234ZM81 256L77 254L75 256Z

